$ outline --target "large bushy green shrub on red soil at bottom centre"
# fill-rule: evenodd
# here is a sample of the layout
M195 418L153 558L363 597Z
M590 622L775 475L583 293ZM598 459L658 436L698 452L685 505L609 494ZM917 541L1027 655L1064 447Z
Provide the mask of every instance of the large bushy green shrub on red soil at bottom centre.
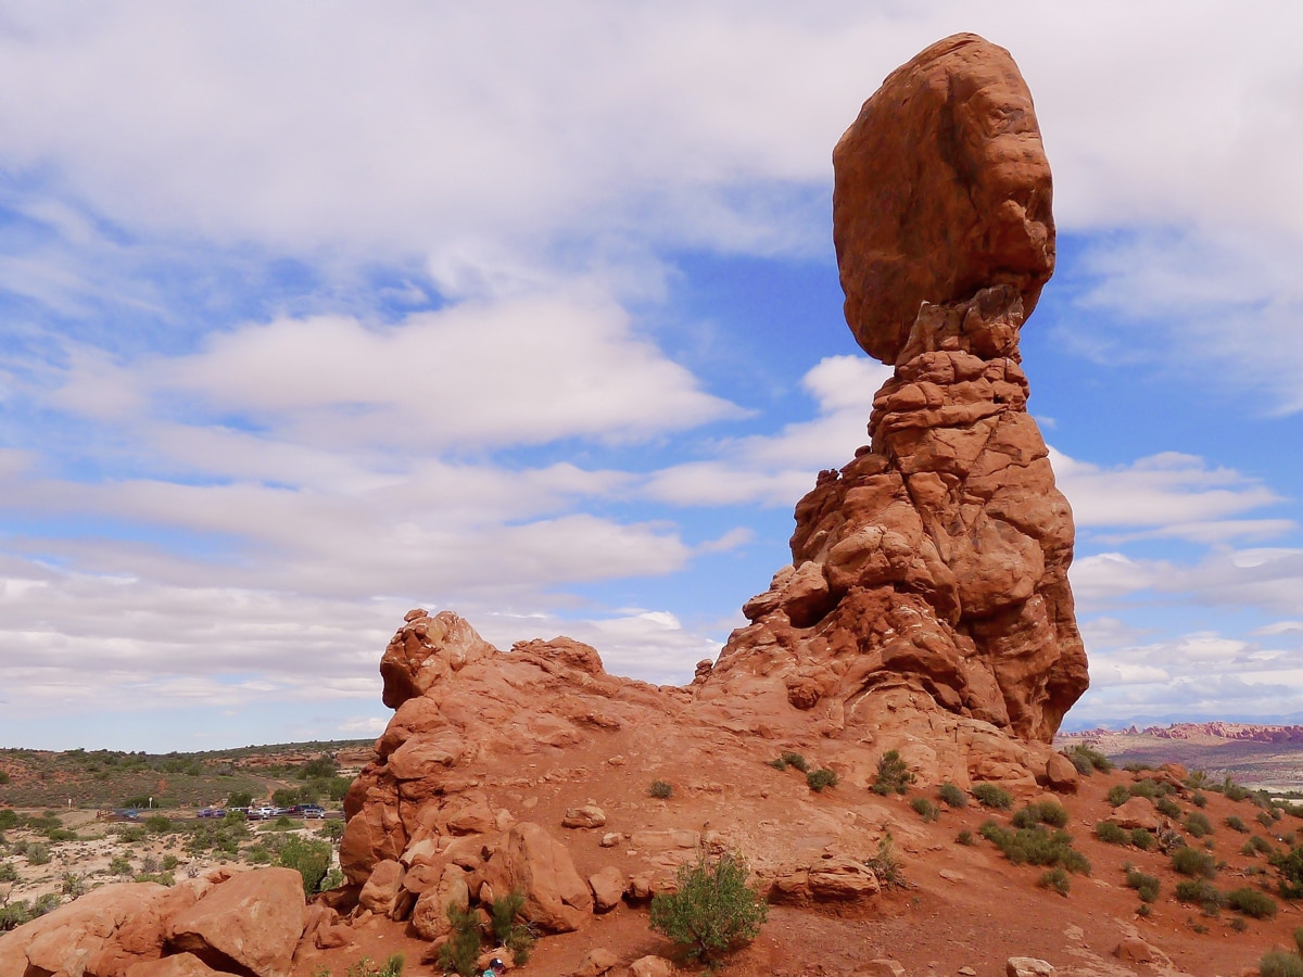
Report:
M769 904L747 885L747 862L726 852L715 860L705 849L694 865L679 866L679 891L652 899L652 929L683 946L691 959L711 963L739 943L756 938Z

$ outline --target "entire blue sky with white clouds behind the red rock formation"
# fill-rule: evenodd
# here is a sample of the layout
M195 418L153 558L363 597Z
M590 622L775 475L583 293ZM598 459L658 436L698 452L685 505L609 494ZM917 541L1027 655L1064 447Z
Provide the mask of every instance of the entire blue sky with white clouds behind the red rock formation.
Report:
M1023 68L1070 727L1303 713L1293 4L0 3L0 745L365 737L401 615L684 683L882 366L830 152Z

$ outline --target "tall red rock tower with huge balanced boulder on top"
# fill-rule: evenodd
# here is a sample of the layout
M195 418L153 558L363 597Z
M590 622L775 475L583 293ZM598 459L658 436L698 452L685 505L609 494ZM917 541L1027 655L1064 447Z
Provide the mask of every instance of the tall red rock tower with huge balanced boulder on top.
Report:
M887 77L833 162L847 322L895 373L870 444L800 500L792 565L698 698L782 694L829 736L917 733L924 766L1044 780L1044 750L989 737L1050 743L1087 688L1072 513L1019 365L1054 268L1031 94L1009 52L947 38Z

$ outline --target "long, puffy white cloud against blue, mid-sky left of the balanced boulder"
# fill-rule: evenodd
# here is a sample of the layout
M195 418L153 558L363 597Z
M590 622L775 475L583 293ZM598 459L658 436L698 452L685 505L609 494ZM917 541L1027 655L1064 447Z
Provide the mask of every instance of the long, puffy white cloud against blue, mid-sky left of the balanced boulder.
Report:
M468 302L371 328L279 319L126 366L74 353L55 406L117 417L151 397L159 412L210 425L233 416L324 448L645 439L744 413L702 392L601 300Z

